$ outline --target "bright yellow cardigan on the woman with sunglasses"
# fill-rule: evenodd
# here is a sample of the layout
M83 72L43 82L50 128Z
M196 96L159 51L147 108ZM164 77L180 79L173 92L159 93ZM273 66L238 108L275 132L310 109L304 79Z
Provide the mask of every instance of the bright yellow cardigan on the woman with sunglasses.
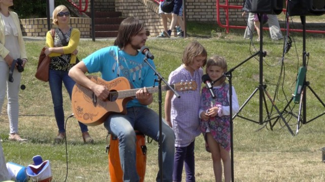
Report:
M78 45L80 40L80 31L77 28L73 28L70 35L70 40L67 46L62 47L64 54L71 54L73 53ZM51 30L46 33L46 47L53 48L54 47L54 40L51 35ZM56 57L61 56L61 53L51 53L49 57ZM77 60L76 55L71 55L70 64L75 64Z

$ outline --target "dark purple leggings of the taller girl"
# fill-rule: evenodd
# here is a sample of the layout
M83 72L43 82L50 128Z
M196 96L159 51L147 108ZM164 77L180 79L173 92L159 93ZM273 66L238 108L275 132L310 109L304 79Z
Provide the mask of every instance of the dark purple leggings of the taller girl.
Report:
M186 182L195 181L194 141L187 147L176 147L174 159L173 181L182 181L183 165L185 163Z

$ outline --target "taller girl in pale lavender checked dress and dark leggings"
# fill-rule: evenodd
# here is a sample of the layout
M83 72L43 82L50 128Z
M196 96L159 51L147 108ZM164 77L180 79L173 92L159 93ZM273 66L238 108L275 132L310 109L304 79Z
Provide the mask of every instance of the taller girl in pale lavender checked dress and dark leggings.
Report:
M194 140L201 134L198 111L200 108L200 90L203 68L207 62L207 51L197 41L190 42L183 53L183 64L172 71L169 84L196 81L195 90L178 92L177 98L169 90L165 98L165 117L175 133L175 157L173 181L182 181L185 164L185 181L195 181L194 173Z

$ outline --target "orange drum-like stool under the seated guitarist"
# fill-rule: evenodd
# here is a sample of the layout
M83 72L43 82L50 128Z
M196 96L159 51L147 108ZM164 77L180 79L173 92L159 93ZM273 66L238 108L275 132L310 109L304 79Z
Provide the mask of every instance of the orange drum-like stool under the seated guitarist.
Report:
M136 165L137 172L140 177L140 182L144 181L144 175L146 173L146 162L147 162L147 147L145 135L136 130L137 141L136 141ZM120 163L120 155L118 150L118 139L117 136L111 134L111 140L108 151L108 164L109 173L112 182L123 181L123 171Z

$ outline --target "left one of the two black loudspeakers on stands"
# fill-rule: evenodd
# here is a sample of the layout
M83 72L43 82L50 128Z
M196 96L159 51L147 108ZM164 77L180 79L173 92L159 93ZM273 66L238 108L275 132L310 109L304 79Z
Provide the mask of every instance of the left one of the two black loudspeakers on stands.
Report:
M283 0L245 0L243 5L243 11L250 13L278 15L282 9Z

